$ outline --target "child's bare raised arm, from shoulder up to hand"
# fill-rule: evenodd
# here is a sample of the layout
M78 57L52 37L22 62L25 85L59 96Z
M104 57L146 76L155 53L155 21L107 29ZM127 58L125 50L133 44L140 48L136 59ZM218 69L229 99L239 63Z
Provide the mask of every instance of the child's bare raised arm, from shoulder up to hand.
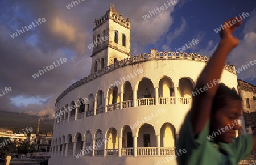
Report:
M232 21L233 19L230 20ZM229 22L229 20L226 22ZM207 87L207 84L210 84L210 82L213 82L214 80L217 81L217 79L220 79L226 57L228 57L228 54L239 43L239 40L233 37L232 32L237 26L240 26L240 24L241 21L233 24L232 26L225 23L226 29L220 32L221 41L209 62L199 75L195 91L200 90L200 88L203 89L204 87ZM191 121L195 136L201 132L210 117L212 101L214 95L216 94L217 88L218 84L200 93L199 95L196 95L193 99Z

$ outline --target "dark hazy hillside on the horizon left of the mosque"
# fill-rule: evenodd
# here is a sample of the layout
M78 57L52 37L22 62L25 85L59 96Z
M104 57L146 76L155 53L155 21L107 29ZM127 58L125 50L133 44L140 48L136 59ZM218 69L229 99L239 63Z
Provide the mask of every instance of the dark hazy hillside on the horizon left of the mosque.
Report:
M13 132L21 132L23 128L32 127L34 132L38 126L39 116L31 116L25 113L3 112L0 111L0 128L8 128ZM53 119L44 119L40 124L40 132L53 131Z

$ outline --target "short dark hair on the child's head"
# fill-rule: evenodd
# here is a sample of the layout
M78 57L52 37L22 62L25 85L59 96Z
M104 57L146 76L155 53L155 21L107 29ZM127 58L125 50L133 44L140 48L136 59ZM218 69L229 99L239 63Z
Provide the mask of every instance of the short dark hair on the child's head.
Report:
M240 100L240 96L237 94L236 90L232 90L227 87L224 83L220 83L216 91L216 95L213 98L212 103L212 114L215 113L218 109L224 108L228 101Z

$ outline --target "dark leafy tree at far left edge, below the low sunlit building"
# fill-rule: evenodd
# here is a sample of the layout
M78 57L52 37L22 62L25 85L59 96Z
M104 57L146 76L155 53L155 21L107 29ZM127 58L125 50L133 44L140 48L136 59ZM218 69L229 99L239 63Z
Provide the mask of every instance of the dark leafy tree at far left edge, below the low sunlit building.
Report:
M16 142L12 142L9 137L0 137L0 154L6 158L10 153L16 152Z

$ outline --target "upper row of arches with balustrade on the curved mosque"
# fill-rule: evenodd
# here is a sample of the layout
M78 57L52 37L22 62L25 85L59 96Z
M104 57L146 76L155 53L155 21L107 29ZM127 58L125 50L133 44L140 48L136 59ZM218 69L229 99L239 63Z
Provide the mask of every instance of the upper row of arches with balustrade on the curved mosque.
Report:
M156 82L149 78L139 78L135 84L129 81L115 82L117 84L111 84L106 91L98 90L95 93L88 93L57 109L55 128L70 121L130 107L191 105L192 90L195 86L195 82L189 77L181 77L175 85L170 77L162 76L156 87L154 87Z

